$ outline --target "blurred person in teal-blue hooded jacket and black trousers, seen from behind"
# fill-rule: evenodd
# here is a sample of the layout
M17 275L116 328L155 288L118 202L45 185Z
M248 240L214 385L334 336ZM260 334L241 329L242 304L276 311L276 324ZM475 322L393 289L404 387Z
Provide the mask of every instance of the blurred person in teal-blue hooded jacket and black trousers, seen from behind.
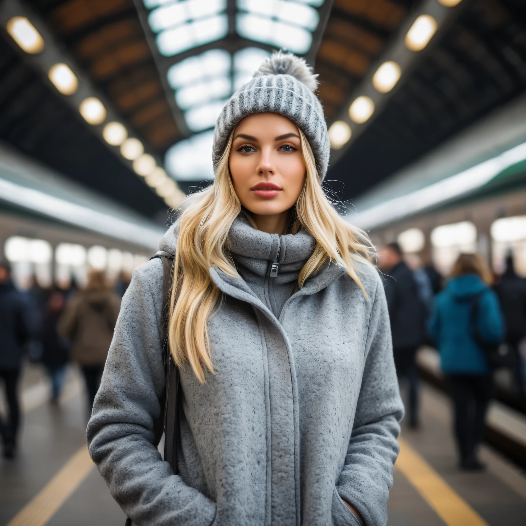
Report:
M477 448L484 434L484 420L492 397L491 367L479 337L488 344L502 342L504 323L497 295L490 289L491 273L480 254L461 254L451 280L435 298L429 332L440 352L454 403L454 433L460 467L483 469ZM474 302L478 307L474 311ZM472 318L473 312L477 319Z

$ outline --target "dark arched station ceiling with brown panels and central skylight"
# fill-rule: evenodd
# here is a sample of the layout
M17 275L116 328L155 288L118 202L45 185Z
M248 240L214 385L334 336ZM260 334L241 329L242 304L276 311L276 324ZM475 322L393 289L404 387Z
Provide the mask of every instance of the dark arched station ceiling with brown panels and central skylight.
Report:
M119 119L159 159L174 145L209 134L217 107L250 76L250 68L254 70L262 56L279 47L315 64L319 96L332 124L421 4L417 0L25 3L113 105ZM526 89L524 2L462 0L454 9L454 16L420 52L367 127L345 152L333 156L337 162L330 168L328 185L340 198L356 197ZM0 41L0 139L145 216L166 209L129 164L122 163L53 85L32 69L9 38L4 32ZM193 71L200 68L201 76L190 82L186 65ZM199 184L199 177L179 183L185 190Z

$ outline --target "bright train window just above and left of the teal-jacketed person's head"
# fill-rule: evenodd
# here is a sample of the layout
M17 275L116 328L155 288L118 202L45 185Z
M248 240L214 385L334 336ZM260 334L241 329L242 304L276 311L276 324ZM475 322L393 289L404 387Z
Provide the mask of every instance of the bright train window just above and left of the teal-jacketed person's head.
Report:
M477 227L471 221L441 225L431 231L433 264L447 276L461 252L477 250Z

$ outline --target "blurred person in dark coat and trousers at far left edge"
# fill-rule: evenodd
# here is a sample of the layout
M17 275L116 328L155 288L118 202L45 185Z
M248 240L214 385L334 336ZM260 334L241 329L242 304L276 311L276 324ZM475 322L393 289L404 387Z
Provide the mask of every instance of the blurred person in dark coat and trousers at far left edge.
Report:
M9 417L0 418L0 434L4 443L4 457L15 454L16 436L20 422L17 395L18 378L22 365L24 344L31 327L27 298L13 286L11 269L0 262L0 378L4 381Z

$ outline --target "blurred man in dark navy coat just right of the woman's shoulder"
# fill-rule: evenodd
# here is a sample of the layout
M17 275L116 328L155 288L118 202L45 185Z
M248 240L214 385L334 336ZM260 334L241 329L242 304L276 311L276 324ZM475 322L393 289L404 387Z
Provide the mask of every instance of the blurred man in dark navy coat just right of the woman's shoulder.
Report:
M417 349L426 340L426 307L420 299L413 272L402 259L398 243L380 250L378 266L386 280L397 375L409 380L409 426L416 428L419 378L415 357Z

